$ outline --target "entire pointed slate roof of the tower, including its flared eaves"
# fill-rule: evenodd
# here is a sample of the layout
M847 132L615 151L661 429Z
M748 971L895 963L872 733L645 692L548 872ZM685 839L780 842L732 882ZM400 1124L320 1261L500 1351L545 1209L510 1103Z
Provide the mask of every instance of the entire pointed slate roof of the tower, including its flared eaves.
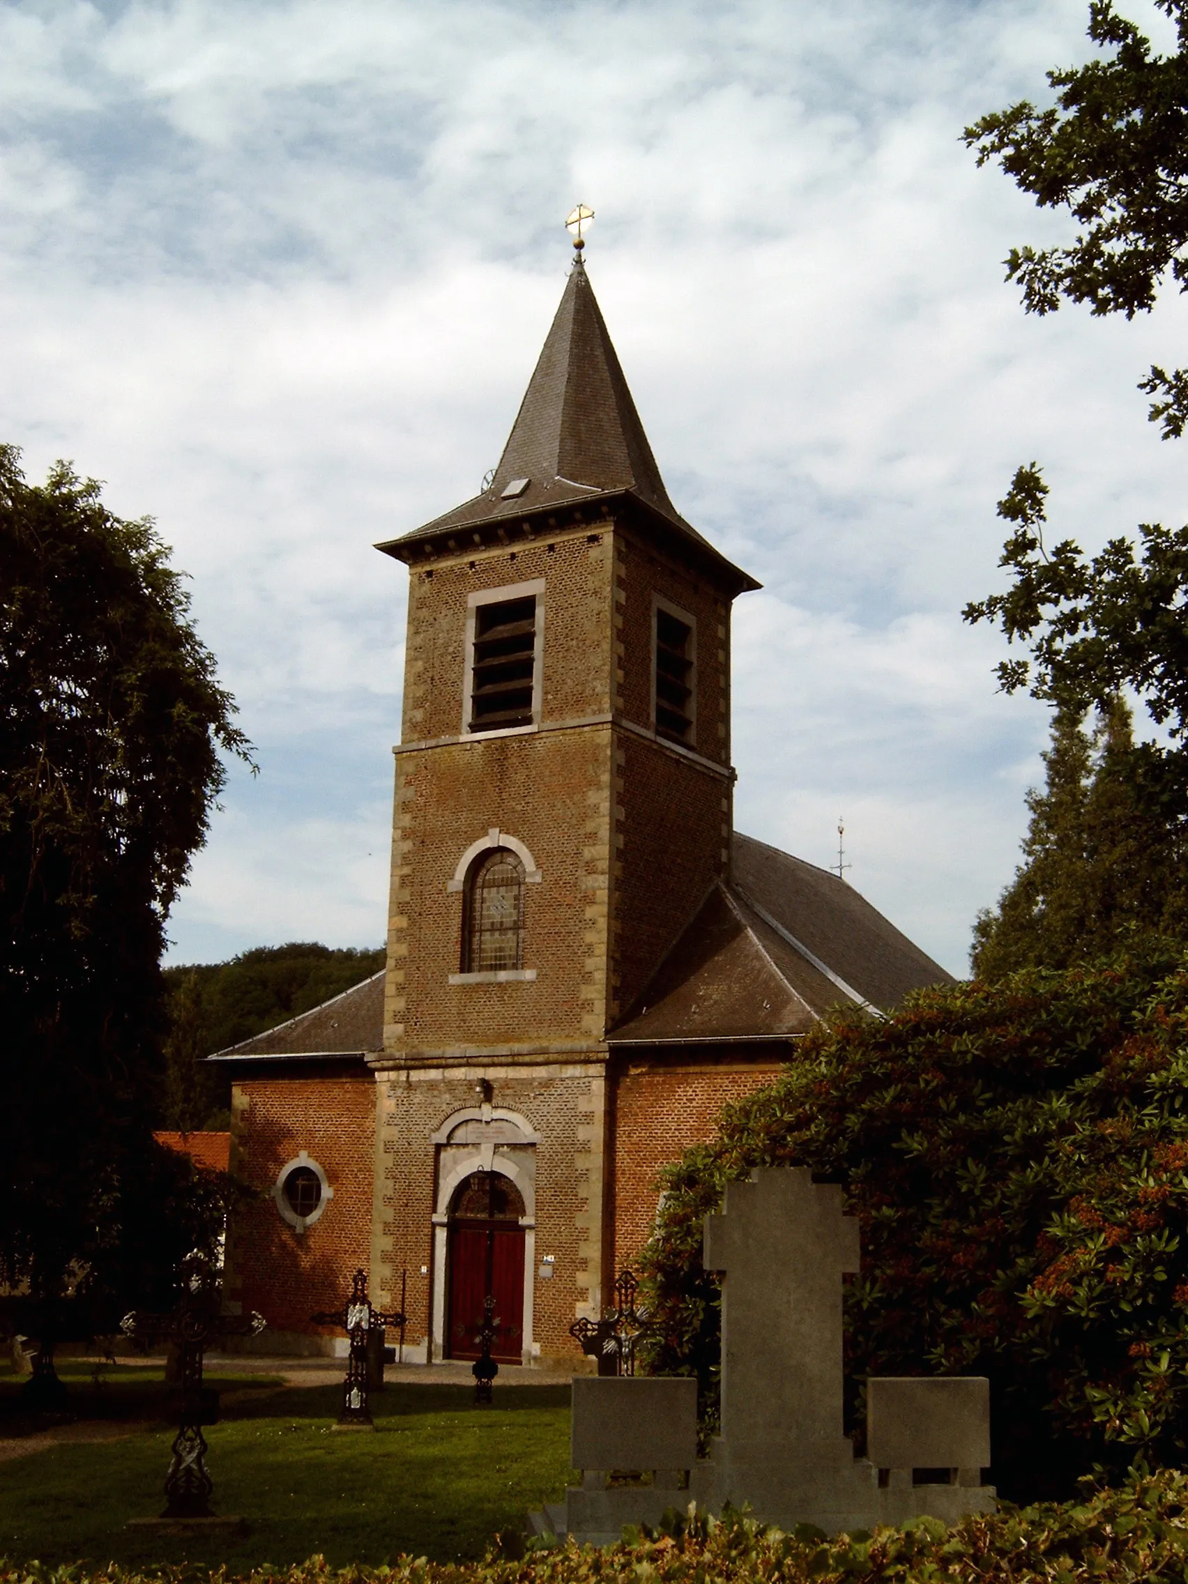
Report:
M513 480L527 480L527 488L505 497L504 489ZM407 559L426 539L455 529L616 496L632 497L676 527L683 539L725 569L740 591L759 588L686 523L668 499L594 288L578 258L489 488L425 527L377 548Z

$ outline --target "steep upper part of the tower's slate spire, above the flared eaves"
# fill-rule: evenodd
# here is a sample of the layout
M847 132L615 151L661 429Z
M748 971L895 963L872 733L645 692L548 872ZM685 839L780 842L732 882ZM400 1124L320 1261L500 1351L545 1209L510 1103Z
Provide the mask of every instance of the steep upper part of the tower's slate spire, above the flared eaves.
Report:
M529 485L632 489L676 516L615 353L581 253L565 282L491 494L516 478Z

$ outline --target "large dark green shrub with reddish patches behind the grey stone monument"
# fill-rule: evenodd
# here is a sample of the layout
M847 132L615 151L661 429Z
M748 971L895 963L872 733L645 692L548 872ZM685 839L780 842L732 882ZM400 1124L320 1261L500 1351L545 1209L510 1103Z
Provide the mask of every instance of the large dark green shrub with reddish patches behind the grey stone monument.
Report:
M642 1266L713 1411L719 1288L702 1218L756 1166L841 1182L851 1402L874 1375L985 1373L995 1476L1069 1494L1188 1446L1188 960L938 987L805 1038L776 1083L664 1172Z

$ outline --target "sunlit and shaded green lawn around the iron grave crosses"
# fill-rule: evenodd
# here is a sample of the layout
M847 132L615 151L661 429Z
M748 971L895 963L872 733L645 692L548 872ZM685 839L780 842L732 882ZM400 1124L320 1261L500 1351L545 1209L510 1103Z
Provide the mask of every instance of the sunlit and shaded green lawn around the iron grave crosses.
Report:
M160 1394L141 1369L127 1376L144 1416ZM70 1365L62 1370L70 1381ZM219 1380L247 1388L250 1376ZM87 1376L79 1378L79 1386ZM11 1389L11 1388L8 1388ZM6 1396L0 1373L0 1400ZM475 1408L466 1386L388 1384L372 1396L375 1432L334 1432L341 1389L261 1392L206 1430L217 1513L242 1514L246 1536L182 1541L127 1530L163 1506L173 1429L135 1429L101 1445L54 1446L0 1464L0 1555L14 1560L227 1563L277 1567L322 1552L375 1565L407 1551L432 1560L478 1557L496 1529L523 1525L569 1479L569 1388L501 1386ZM160 1396L157 1396L160 1402Z

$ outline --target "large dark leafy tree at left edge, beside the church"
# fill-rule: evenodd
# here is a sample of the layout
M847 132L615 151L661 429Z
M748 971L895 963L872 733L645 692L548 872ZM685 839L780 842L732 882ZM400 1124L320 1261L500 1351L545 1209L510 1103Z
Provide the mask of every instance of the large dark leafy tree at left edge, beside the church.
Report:
M43 1305L117 1316L219 1228L150 1126L165 920L247 757L233 710L152 523L0 447L0 1280Z

